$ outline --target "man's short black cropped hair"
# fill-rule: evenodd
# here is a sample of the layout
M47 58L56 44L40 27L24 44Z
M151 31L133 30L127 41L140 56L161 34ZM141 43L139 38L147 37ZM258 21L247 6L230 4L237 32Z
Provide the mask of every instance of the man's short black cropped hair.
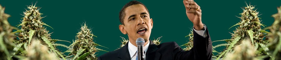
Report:
M126 5L123 6L123 8L121 9L121 11L120 11L120 13L119 13L119 20L120 20L121 24L124 25L124 18L125 18L125 15L126 15L126 14L125 14L125 9L126 9L127 7L129 7L129 6L136 5L136 4L141 4L141 5L145 6L144 4L142 4L142 3L139 2L139 1L130 1L130 2L128 2ZM148 9L146 8L146 6L145 6L145 9L146 9L146 11L148 12ZM148 13L148 14L149 14L149 13Z

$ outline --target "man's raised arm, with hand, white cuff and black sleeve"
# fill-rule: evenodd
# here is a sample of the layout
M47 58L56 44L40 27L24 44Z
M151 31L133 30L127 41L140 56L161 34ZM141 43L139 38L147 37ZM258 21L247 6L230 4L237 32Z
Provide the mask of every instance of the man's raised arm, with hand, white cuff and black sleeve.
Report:
M194 2L194 0L184 0L186 15L188 19L193 23L193 48L190 51L182 51L177 54L181 58L185 56L192 56L191 59L195 60L211 60L212 59L212 41L209 35L208 29L204 26L201 20L200 6ZM180 58L180 59L181 59ZM185 58L183 58L185 59Z

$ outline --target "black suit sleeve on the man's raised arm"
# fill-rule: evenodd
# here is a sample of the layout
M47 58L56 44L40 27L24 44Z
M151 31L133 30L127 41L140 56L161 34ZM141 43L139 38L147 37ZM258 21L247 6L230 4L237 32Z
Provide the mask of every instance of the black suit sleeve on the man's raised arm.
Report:
M193 33L193 48L184 51L178 45L174 45L172 54L175 60L211 60L212 59L212 41L206 28L207 37Z

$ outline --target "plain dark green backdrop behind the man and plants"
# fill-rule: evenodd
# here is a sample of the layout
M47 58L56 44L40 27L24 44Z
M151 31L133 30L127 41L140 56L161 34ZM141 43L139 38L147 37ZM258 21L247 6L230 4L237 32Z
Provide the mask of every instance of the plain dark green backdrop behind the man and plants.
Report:
M0 4L6 7L5 13L11 15L8 19L12 26L21 23L20 14L27 9L27 6L32 5L32 2L37 2L37 6L42 7L40 12L46 16L42 21L52 28L47 27L47 30L53 32L52 39L60 39L71 41L75 40L76 33L81 28L81 24L86 24L92 28L94 41L102 46L98 47L107 51L113 51L120 47L121 38L128 38L120 32L118 25L119 11L131 0L0 0ZM150 35L150 39L163 36L162 42L175 41L179 45L187 42L190 28L193 24L185 14L183 0L141 0L149 12L150 18L153 18L154 26ZM259 11L259 17L264 25L270 26L274 18L271 15L277 13L277 7L281 5L281 0L195 0L200 5L202 10L202 22L206 24L212 41L230 39L229 32L235 28L229 27L239 22L241 16L241 7L247 4L254 5ZM20 27L18 27L20 28ZM57 42L65 45L70 45L68 42ZM218 45L225 42L214 42L213 45ZM58 47L61 51L66 51L66 48ZM181 48L185 48L181 46ZM216 49L222 50L224 47ZM101 51L97 56L106 52Z

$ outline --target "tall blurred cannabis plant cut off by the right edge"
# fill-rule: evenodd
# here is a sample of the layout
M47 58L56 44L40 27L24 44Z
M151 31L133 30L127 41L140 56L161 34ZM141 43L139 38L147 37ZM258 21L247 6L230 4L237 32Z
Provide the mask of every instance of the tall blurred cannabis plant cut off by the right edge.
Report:
M281 6L277 7L278 13L272 15L274 17L275 21L274 23L265 29L270 30L270 34L268 34L267 38L269 41L269 44L267 45L269 47L269 53L271 60L281 60Z

